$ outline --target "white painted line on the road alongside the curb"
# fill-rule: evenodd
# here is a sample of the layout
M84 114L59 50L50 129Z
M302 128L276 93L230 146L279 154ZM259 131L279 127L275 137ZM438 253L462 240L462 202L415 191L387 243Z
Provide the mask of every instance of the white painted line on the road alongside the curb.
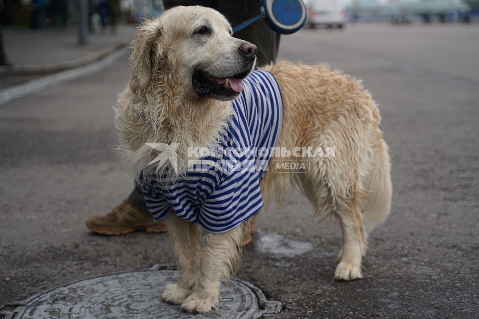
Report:
M120 57L124 53L125 48L119 49L112 55L107 56L101 61L92 63L91 65L81 66L75 69L55 73L47 77L41 77L0 90L0 105L6 104L15 99L23 98L32 93L42 91L48 87L95 73L111 64L116 58Z

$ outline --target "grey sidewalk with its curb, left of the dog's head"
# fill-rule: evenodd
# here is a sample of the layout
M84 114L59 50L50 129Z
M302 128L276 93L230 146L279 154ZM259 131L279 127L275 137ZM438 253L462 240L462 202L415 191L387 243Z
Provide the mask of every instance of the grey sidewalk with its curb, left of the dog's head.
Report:
M40 31L6 28L3 30L5 50L15 66L0 66L0 89L91 64L127 46L134 36L134 25L120 25L116 33L90 33L88 43L79 45L74 28Z

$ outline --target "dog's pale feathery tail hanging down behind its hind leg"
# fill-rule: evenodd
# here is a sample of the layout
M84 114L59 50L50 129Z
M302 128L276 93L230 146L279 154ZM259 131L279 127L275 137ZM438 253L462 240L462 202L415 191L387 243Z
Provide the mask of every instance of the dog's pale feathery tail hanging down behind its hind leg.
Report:
M366 187L369 190L369 196L366 199L363 224L366 231L370 232L386 220L391 209L392 184L388 145L383 139L379 140L375 165L366 177Z

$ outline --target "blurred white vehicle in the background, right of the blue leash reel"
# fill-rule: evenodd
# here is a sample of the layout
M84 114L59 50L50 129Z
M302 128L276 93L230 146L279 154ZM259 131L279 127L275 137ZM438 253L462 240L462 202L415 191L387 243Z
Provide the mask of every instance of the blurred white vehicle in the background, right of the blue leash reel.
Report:
M347 13L341 0L310 0L307 8L306 26L310 28L342 28L346 24Z

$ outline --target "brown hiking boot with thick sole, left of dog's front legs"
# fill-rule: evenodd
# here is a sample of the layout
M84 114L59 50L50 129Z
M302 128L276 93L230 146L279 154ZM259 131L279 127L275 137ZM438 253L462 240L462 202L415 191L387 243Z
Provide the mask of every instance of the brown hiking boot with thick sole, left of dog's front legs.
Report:
M163 222L153 222L149 213L134 208L126 200L109 213L87 218L87 227L102 235L123 235L139 230L153 233L168 231Z

